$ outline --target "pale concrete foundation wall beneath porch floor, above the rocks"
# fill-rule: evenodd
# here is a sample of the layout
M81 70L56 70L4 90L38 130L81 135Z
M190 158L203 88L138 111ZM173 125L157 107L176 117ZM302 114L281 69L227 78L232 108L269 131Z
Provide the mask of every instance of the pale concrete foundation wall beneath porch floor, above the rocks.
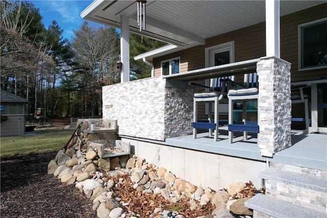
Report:
M165 167L176 177L203 188L215 190L227 188L232 182L252 181L256 188L263 187L257 176L266 168L266 163L231 156L170 147L163 144L122 138L130 142L131 153L144 158L148 163Z

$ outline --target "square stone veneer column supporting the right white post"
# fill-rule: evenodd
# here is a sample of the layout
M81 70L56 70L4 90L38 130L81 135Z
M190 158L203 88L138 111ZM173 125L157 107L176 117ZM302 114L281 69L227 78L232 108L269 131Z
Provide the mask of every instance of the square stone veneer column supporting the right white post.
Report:
M259 75L258 145L261 155L292 146L291 143L291 64L277 57L263 57L256 65Z

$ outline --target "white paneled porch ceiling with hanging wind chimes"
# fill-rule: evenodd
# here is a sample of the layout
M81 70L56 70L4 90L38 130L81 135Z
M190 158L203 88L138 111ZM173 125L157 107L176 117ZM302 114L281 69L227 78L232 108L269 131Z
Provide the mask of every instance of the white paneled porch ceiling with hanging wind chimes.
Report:
M281 1L281 16L327 1ZM129 17L130 31L179 46L204 44L205 39L265 21L265 1L147 1L146 30L139 32L136 1L96 0L84 19L121 28Z

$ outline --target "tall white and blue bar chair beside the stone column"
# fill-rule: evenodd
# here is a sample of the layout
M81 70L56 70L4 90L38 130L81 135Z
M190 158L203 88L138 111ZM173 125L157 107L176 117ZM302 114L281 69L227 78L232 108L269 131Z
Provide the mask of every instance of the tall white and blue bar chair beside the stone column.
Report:
M250 81L249 81L250 79ZM259 90L256 72L250 75L244 75L244 87L241 89L230 89L228 91L228 142L232 143L234 131L243 132L243 140L247 140L247 132L258 132L258 122L247 121L247 102L258 102ZM233 122L233 102L241 102L242 122ZM259 120L259 113L258 113Z

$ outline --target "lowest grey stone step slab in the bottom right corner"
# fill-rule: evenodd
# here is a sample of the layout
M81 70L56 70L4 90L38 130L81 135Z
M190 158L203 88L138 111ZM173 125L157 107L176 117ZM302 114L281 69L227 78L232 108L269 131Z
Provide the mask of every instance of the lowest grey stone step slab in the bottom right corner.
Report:
M327 213L302 207L283 200L278 200L262 194L253 196L247 200L244 205L248 208L268 214L275 218L327 217Z

